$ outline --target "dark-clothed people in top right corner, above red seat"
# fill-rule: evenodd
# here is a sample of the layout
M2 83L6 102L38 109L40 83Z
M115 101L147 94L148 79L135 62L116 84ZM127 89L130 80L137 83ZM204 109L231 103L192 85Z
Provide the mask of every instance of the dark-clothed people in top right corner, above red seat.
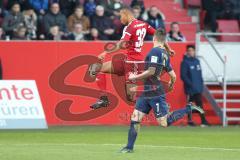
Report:
M202 0L202 9L207 11L205 25L217 31L217 19L240 21L240 0Z

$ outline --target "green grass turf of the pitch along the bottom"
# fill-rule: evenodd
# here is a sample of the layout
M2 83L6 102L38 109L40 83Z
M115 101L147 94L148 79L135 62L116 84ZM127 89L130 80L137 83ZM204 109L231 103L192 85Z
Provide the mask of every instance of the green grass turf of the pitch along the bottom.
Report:
M240 127L142 127L134 153L118 151L128 127L0 131L1 160L239 160Z

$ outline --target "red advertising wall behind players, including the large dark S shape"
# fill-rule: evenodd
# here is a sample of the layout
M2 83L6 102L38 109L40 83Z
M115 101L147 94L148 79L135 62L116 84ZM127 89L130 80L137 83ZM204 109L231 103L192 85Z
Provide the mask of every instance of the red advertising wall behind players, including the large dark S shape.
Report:
M36 80L49 125L128 124L133 106L116 92L114 82L117 76L113 77L114 80L110 75L107 76L107 90L113 101L111 106L96 111L89 108L99 96L99 91L94 82L84 80L87 69L87 64L84 63L93 61L94 56L103 51L105 44L106 42L0 42L3 77L11 80ZM171 109L177 109L186 103L179 66L187 44L170 45L176 51L171 62L177 74L177 82L174 91L167 94L167 99ZM151 47L152 43L146 43L143 53L146 54ZM107 60L110 59L110 56L107 57ZM86 95L85 90L91 92ZM156 124L153 114L145 118L144 123Z

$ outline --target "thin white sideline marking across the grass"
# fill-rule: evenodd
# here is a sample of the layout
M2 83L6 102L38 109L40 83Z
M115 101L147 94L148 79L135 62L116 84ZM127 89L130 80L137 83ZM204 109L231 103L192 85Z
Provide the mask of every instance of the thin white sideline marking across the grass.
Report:
M87 144L87 143L29 143L29 144L0 144L0 146L124 146L124 144ZM195 149L195 150L218 150L218 151L237 151L240 148L215 148L215 147L194 147L194 146L161 146L161 145L135 145L144 148L172 148L172 149Z

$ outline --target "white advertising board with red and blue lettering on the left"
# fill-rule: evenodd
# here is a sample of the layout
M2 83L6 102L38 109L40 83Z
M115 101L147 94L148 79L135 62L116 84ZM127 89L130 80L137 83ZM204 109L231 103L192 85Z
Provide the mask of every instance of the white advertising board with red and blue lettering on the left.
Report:
M34 80L0 81L0 129L45 129L47 123Z

